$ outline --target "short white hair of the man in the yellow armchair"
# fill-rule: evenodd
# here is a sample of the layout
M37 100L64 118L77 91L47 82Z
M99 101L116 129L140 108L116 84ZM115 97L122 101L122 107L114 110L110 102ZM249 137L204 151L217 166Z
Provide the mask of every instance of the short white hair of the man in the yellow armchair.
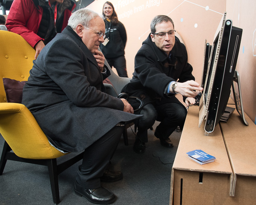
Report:
M75 11L68 20L68 26L75 29L78 24L81 24L83 26L90 26L90 21L97 16L104 19L102 14L98 14L97 12L90 10L90 9L79 9ZM86 28L89 29L89 28Z

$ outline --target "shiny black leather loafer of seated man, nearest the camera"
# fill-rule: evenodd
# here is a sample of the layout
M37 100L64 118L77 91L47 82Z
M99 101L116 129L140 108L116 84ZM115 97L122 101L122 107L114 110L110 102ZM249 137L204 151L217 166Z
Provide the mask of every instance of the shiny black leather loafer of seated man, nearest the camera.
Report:
M104 187L98 189L85 189L75 181L74 191L78 196L84 196L93 204L111 204L116 196Z

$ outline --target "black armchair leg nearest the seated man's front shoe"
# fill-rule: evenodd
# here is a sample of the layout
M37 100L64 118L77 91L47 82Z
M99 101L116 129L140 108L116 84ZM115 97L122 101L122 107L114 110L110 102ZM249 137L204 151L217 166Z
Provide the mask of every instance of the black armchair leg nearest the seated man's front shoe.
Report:
M50 177L50 184L52 189L52 198L55 204L59 204L59 182L58 182L58 170L57 170L57 160L51 159L47 160L47 166Z

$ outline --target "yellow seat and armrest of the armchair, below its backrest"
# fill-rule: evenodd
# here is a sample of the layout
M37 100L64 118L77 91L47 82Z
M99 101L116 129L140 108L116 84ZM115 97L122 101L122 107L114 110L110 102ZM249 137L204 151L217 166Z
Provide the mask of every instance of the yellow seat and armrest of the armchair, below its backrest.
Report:
M33 114L19 103L0 103L0 133L22 158L53 159L65 155L50 145Z

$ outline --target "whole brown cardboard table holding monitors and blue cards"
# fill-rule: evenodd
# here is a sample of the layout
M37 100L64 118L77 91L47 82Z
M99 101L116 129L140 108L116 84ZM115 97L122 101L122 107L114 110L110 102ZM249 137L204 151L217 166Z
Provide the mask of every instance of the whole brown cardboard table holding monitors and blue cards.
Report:
M255 124L247 117L251 123L244 125L234 111L227 123L206 136L204 124L198 127L198 113L199 107L189 107L172 167L170 205L256 204ZM216 160L198 164L186 154L195 149Z

